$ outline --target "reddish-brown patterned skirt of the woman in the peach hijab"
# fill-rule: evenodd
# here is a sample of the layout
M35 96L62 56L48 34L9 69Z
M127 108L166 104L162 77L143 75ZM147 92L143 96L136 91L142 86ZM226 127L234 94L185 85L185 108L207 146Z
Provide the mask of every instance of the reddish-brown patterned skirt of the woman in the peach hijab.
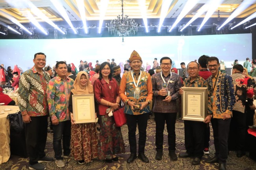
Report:
M96 123L72 124L70 148L77 161L89 163L98 158Z

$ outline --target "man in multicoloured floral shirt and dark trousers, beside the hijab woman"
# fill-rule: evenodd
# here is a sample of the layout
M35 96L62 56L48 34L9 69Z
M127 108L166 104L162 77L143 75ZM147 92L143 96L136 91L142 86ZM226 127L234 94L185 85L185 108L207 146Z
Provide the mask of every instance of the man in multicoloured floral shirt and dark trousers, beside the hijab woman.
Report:
M56 63L57 76L50 80L47 86L47 102L53 126L53 149L56 165L65 166L63 157L70 154L71 122L69 112L69 96L74 80L67 77L67 64L64 61ZM61 139L63 138L63 154Z

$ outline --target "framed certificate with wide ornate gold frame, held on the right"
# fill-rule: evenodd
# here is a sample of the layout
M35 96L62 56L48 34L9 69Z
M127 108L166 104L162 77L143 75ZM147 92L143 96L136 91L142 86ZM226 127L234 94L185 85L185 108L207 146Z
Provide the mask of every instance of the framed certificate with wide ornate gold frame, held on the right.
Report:
M204 121L208 111L208 88L182 87L182 120Z

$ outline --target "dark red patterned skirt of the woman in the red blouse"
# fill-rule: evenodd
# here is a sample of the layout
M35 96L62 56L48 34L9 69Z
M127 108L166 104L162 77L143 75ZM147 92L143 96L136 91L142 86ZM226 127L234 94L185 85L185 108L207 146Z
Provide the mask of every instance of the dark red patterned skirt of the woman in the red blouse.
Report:
M125 153L121 128L115 127L113 116L101 115L98 124L100 124L98 158L113 159L114 154Z

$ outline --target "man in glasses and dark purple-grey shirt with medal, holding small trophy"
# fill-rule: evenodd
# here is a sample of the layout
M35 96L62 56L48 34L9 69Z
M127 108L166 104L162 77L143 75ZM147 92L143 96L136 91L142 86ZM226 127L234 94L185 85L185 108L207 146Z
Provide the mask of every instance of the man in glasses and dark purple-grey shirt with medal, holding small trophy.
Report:
M160 60L161 72L152 76L153 95L155 97L153 112L156 121L156 159L161 160L163 155L163 130L165 122L168 132L169 155L172 161L176 161L176 134L175 122L177 115L177 99L179 88L182 86L180 76L172 73L172 60L163 57Z

